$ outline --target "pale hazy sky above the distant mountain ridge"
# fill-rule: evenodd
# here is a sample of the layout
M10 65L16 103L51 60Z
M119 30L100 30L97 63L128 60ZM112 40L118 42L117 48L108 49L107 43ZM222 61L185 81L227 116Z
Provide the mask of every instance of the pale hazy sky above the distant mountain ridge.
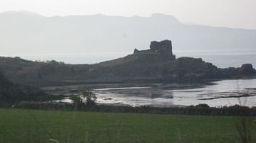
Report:
M0 0L0 12L43 16L151 16L164 13L185 23L256 29L256 0Z

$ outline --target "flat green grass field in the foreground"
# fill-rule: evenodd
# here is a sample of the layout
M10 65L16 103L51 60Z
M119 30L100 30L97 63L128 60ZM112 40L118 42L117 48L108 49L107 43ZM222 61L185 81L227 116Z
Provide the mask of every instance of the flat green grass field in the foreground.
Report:
M0 109L0 142L240 142L237 123L238 117ZM250 127L256 137L256 124Z

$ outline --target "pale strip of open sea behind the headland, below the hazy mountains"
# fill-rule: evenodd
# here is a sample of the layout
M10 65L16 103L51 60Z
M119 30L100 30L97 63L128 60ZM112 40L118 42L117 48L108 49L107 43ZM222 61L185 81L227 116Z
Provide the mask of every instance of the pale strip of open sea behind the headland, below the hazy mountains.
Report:
M131 52L103 52L103 53L80 53L80 54L53 54L53 55L0 55L1 57L21 57L31 61L55 60L66 64L97 64L107 60L117 59L129 55ZM202 58L220 68L240 67L244 63L251 63L256 67L255 52L210 52L191 51L175 52L176 57ZM232 60L231 60L232 59Z

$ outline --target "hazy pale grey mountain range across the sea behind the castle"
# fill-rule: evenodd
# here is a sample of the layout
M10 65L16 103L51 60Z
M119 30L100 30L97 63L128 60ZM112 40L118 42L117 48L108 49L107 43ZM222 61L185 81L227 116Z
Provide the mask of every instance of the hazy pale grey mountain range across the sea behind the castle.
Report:
M171 39L178 50L255 50L256 30L181 23L161 13L151 17L55 16L28 11L0 13L1 54L130 52L148 41ZM85 62L86 63L86 62Z

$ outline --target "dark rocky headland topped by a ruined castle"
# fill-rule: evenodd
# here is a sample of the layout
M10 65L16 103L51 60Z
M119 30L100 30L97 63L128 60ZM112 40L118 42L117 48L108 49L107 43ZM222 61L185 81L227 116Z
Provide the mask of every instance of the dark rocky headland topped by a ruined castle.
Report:
M151 42L149 50L99 64L32 62L0 57L0 70L17 83L50 86L81 83L200 82L255 77L252 64L221 69L201 58L176 58L170 40Z

